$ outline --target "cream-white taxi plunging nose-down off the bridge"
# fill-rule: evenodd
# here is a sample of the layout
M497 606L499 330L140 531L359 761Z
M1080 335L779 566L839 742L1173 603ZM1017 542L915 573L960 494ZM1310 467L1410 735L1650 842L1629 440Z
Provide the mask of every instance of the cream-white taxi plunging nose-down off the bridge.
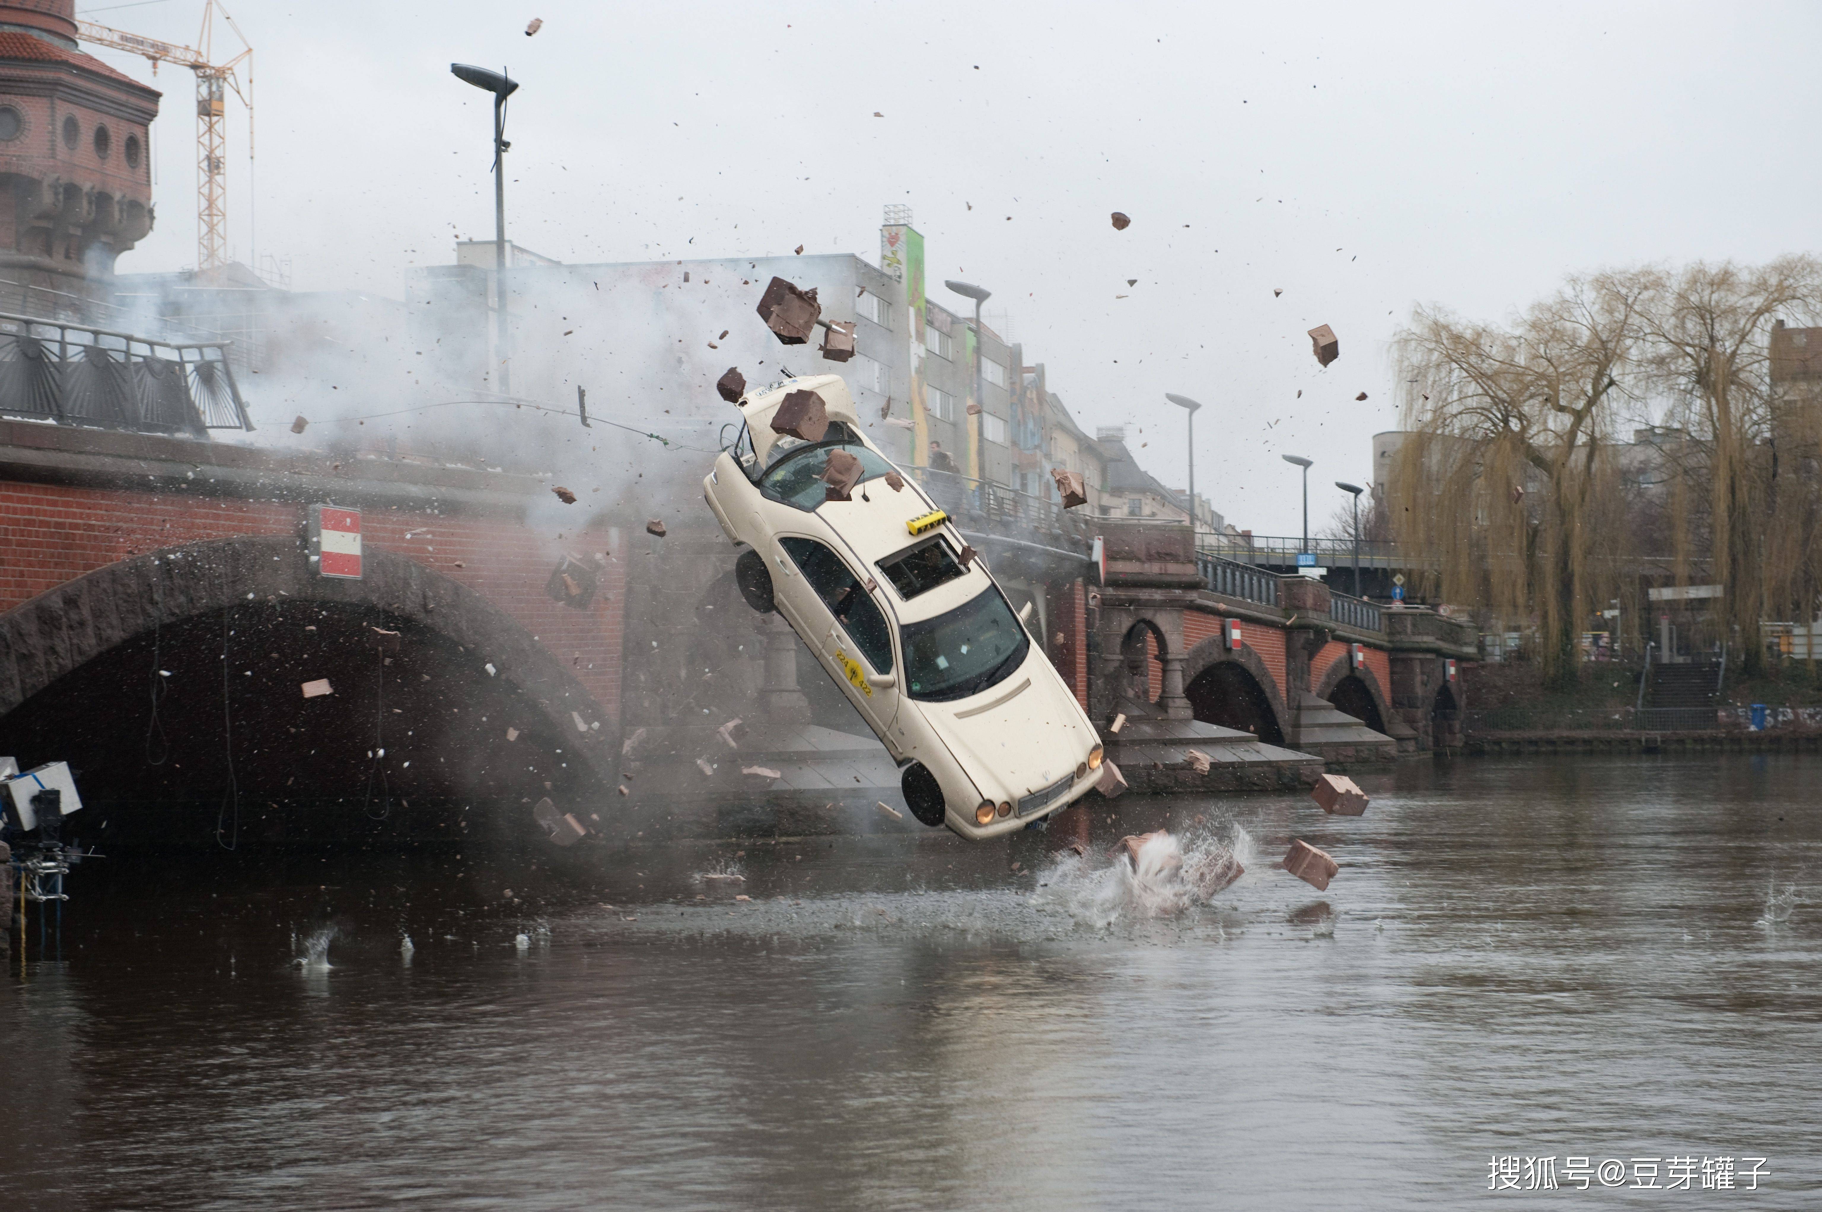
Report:
M822 395L831 421L824 443L773 432L771 417L793 390ZM703 479L709 508L729 539L765 561L778 612L898 765L918 762L935 775L944 824L966 838L988 838L1022 829L1088 793L1100 776L1100 738L1088 714L1017 616L1018 638L1009 638L1000 607L1011 612L1011 605L984 561L949 567L942 545L953 556L964 539L947 519L931 521L940 512L937 503L902 472L902 488L885 483L880 465L896 468L862 434L842 377L778 383L742 399L740 410L742 437ZM802 474L769 478L785 472L793 459L825 461L825 452L805 456L800 448L824 450L836 439L836 425L847 426L849 452L864 445L878 459L862 456L871 476L853 488L851 499L822 501L822 481L807 487ZM805 485L796 505L783 496L791 483ZM913 530L911 523L920 519L926 529ZM834 552L840 565L813 545ZM911 560L904 558L907 552ZM831 607L827 596L844 583L847 592ZM884 636L858 592L884 616ZM998 605L986 594L995 594ZM836 609L844 611L842 621ZM977 631L989 638L971 645ZM975 656L966 656L971 647ZM1004 662L991 669L940 683L969 662L1002 651ZM980 822L977 813L986 804L993 815Z

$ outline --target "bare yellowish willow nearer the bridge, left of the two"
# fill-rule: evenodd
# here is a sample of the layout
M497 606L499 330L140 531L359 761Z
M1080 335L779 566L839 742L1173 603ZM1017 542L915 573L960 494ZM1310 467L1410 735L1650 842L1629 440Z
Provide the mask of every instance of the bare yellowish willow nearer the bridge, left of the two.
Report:
M1571 279L1510 324L1419 308L1396 343L1407 439L1388 508L1441 596L1534 618L1545 676L1576 676L1576 636L1620 574L1612 457L1636 399L1649 272Z

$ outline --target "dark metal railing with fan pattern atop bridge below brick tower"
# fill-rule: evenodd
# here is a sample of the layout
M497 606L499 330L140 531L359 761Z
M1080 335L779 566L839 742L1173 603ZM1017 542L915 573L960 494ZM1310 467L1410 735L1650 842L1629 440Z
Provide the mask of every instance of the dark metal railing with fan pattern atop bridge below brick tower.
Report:
M197 437L251 430L228 344L0 312L0 416Z

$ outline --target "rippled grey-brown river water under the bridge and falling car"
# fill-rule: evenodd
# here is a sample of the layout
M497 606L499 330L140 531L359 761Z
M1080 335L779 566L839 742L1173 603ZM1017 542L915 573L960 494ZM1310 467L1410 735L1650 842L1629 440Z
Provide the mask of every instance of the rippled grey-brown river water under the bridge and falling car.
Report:
M1361 818L1097 804L1086 858L86 864L0 999L0 1207L1817 1208L1818 775L1425 762ZM1164 824L1248 873L1122 899Z

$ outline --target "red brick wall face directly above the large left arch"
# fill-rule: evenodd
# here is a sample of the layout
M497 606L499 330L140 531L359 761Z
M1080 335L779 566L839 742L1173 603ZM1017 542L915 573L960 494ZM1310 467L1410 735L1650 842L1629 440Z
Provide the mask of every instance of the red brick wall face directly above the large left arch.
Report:
M0 483L0 611L126 556L206 539L302 534L306 516L306 505ZM601 527L567 530L559 539L514 521L406 510L363 510L361 529L366 549L410 556L517 620L619 725L625 536L610 545ZM417 534L406 538L412 530ZM563 550L609 556L589 611L545 596Z

